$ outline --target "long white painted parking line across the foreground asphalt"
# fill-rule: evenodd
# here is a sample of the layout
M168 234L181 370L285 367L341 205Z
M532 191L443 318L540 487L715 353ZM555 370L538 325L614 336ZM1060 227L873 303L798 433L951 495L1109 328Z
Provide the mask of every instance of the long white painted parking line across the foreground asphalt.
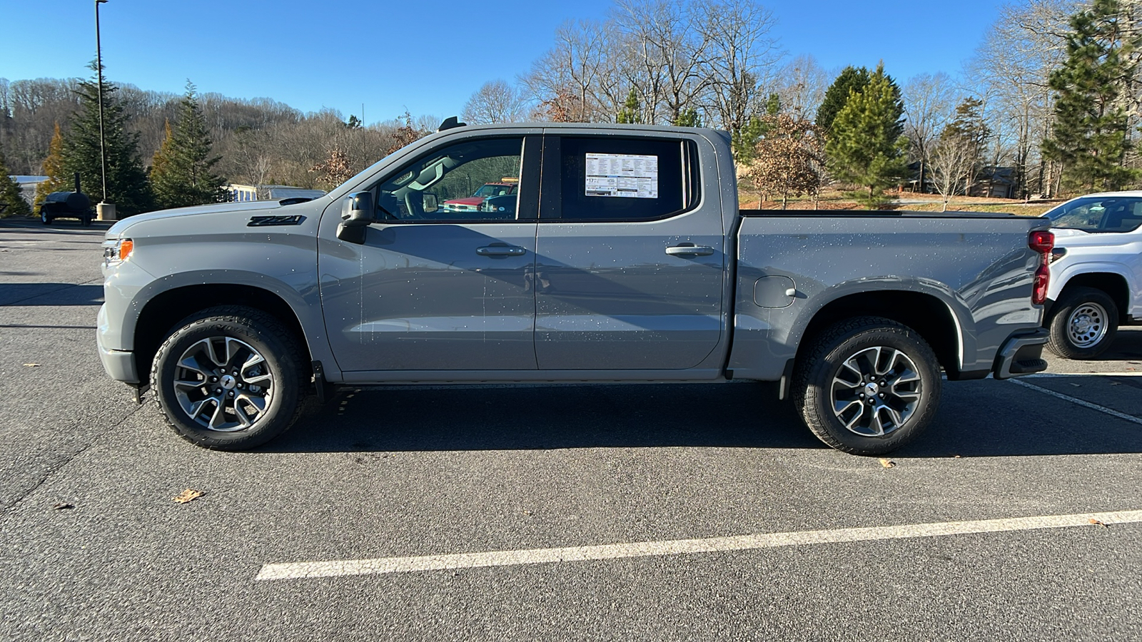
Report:
M622 557L648 557L656 555L687 555L694 553L750 551L756 548L773 548L777 546L802 546L843 541L941 537L947 535L1007 532L1081 525L1089 528L1092 524L1099 525L1137 522L1142 522L1142 511L1118 511L1112 513L1077 513L1073 515L1044 515L1035 517L980 520L973 522L938 522L893 527L770 532L759 535L739 535L732 537L710 537L706 539L671 539L665 541L640 541L633 544L605 544L602 546L568 546L564 548L493 551L489 553L420 555L415 557L376 557L371 560L293 562L265 564L262 567L262 571L258 572L258 576L255 579L312 579L319 577L338 577L348 575L417 572L482 567L512 567L521 564L548 564L555 562L581 562L587 560L618 560Z

